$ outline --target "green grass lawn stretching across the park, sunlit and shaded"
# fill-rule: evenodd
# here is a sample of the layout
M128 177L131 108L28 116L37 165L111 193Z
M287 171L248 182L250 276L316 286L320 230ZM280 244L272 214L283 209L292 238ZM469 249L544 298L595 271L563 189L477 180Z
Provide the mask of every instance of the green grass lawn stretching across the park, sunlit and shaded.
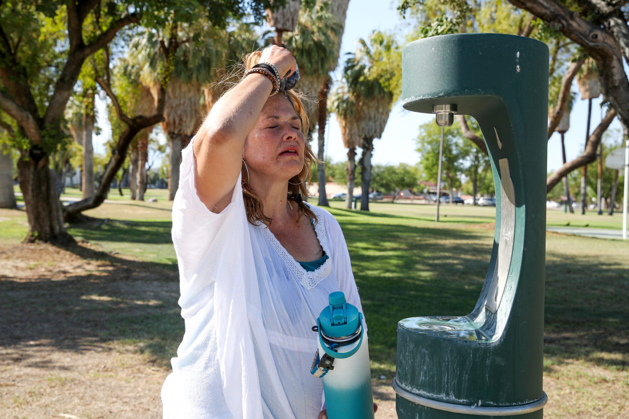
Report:
M399 320L465 315L474 307L489 264L495 209L443 205L437 224L431 205L373 203L369 213L346 210L338 201L331 205L347 240L369 324L372 372L391 378ZM103 204L86 214L106 222L70 225L69 232L91 243L91 253L82 255L86 264L103 251L115 258L114 271L121 277L128 275L125 259L138 261L129 262L136 264L133 269L166 268L176 275L171 208L164 199ZM620 228L621 222L619 215L555 210L548 210L547 218L548 225L599 228ZM25 232L24 211L0 210L0 243L17 243ZM104 310L94 333L114 343L136 344L167 366L184 332L176 293L154 307L130 310L133 304L120 292L106 301L97 290L89 301L81 297L81 304ZM560 406L552 411L557 415L549 417L574 416L575 403L580 412L610 405L604 397L613 399L610 406L617 413L617 406L629 404L629 242L547 233L545 301L545 388L556 383L556 394L563 394L555 398Z

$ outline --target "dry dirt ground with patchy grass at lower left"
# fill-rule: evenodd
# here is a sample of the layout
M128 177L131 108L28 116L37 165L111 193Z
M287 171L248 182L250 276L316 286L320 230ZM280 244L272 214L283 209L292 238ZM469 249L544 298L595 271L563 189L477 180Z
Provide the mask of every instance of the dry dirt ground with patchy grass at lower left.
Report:
M161 418L178 293L172 269L87 243L0 246L0 418ZM389 380L374 396L395 418Z

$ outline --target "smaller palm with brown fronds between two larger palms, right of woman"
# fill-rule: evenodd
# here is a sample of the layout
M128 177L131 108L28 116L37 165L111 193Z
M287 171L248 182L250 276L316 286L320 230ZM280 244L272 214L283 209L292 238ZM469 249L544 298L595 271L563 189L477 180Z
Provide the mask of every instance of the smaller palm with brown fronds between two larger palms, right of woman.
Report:
M347 148L347 199L345 199L345 207L351 209L353 188L356 181L356 147L360 147L361 143L357 119L355 118L356 104L344 82L333 92L331 99L330 112L337 115L343 145Z

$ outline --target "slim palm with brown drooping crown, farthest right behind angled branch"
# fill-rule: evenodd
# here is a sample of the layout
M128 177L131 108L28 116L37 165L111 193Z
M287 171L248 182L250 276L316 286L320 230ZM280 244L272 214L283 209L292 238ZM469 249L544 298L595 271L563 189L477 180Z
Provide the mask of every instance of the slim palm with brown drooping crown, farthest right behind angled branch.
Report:
M581 91L581 99L587 99L587 128L586 128L586 145L590 134L590 120L592 116L592 99L596 99L601 96L601 84L598 81L598 67L596 62L588 58L583 63L580 74L577 75L577 84L579 84L579 91ZM601 141L601 147L603 142ZM603 153L601 153L602 155ZM603 160L599 162L599 176L598 176L598 206L599 214L602 214L600 210L601 204L601 174L603 172ZM586 197L587 197L587 165L583 165L581 169L581 214L586 213Z

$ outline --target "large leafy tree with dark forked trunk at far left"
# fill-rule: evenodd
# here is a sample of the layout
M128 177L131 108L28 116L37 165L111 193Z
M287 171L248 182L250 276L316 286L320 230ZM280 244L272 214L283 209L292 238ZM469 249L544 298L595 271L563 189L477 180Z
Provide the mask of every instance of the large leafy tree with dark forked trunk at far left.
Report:
M172 57L179 43L172 35L174 23L189 22L206 15L217 26L247 13L260 21L265 8L284 3L269 0L178 0L165 6L162 1L15 1L0 3L0 108L12 120L13 147L20 150L18 181L28 215L26 242L35 240L67 242L64 218L101 204L109 184L126 157L135 134L162 120L164 91L172 72ZM160 84L158 112L151 116L119 114L126 128L116 144L100 187L90 198L62 208L50 174L50 155L69 144L64 132L64 113L83 64L99 53L104 59L99 82L117 103L109 79L108 44L126 26L143 26L166 34L166 51ZM116 106L118 110L119 106Z

